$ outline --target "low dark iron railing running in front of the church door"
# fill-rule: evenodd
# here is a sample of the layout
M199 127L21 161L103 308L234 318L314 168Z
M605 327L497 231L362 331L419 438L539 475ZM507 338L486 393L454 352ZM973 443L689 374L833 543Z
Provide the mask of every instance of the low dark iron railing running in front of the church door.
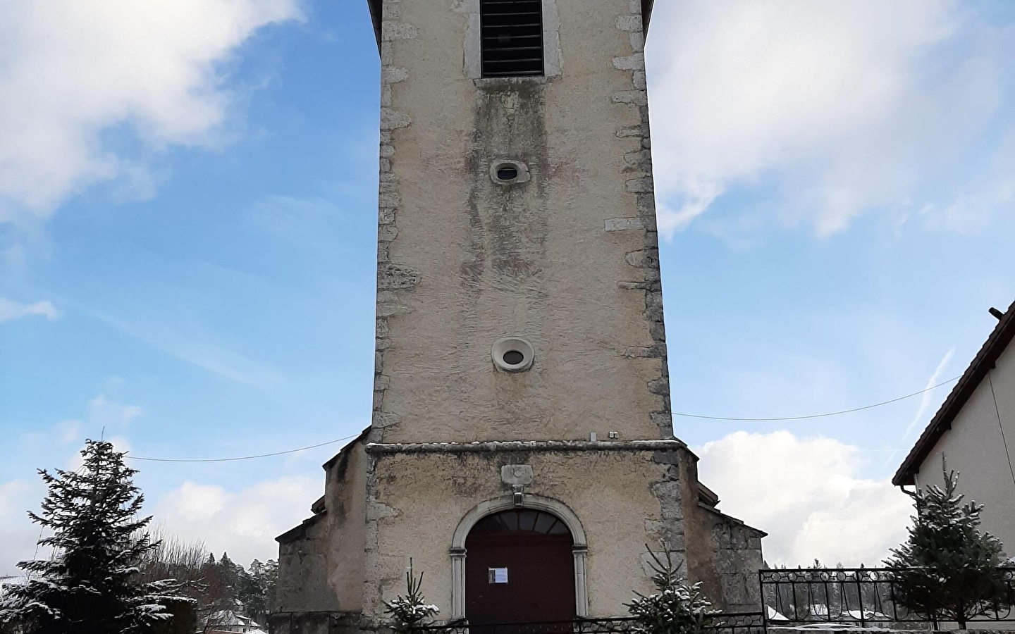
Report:
M719 613L708 619L705 629L714 634L763 634L764 615L760 612ZM412 634L633 634L637 622L631 617L610 619L576 619L536 623L473 624L453 621L444 625L426 625Z

